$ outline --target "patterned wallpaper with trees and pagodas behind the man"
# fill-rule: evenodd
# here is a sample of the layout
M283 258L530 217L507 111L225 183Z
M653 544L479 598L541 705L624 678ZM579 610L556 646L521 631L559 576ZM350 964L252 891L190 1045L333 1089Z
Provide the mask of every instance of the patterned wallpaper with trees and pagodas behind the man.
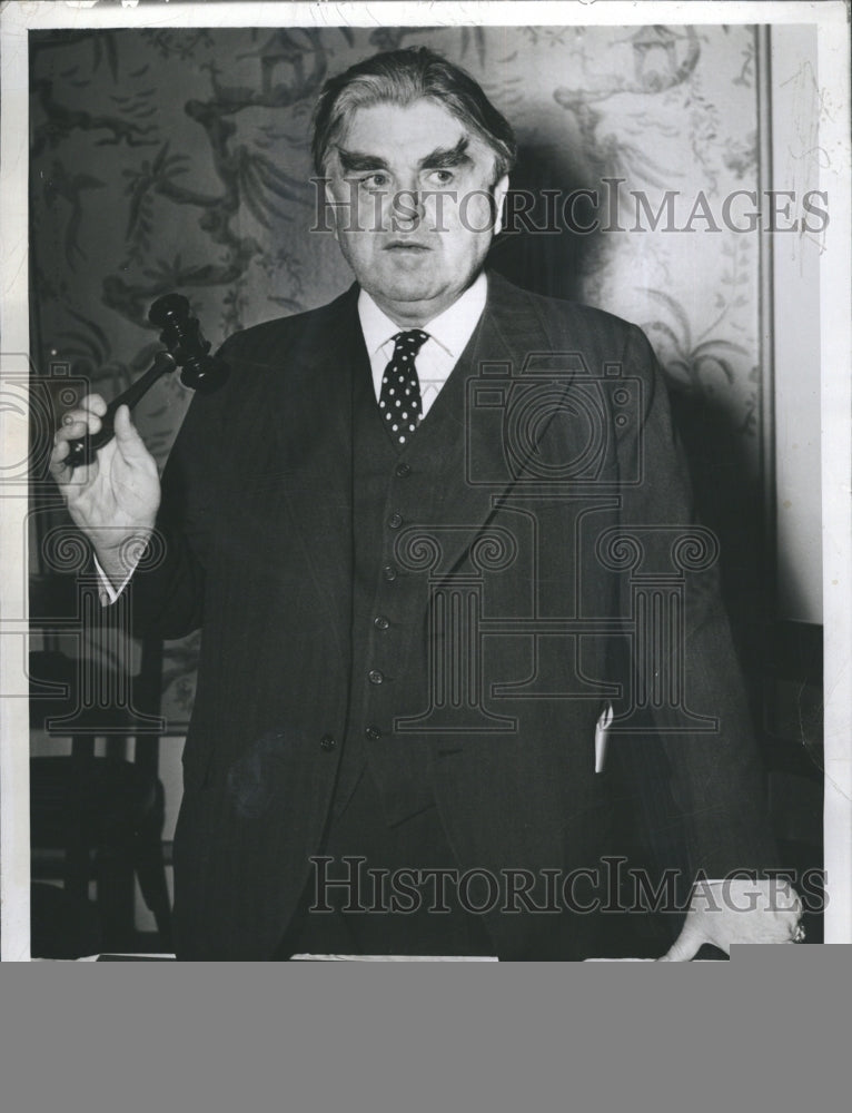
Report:
M521 285L645 327L676 391L747 640L761 518L759 237L731 230L721 211L732 190L757 188L749 27L33 33L36 364L68 362L111 396L158 346L146 314L160 294L186 294L216 344L345 288L333 237L308 232L310 110L329 73L400 45L463 65L512 120L513 184L538 191L536 227L542 190L598 191L595 232L572 233L563 215L558 234L504 237L492 262ZM595 214L576 196L576 223L588 225ZM172 376L137 411L160 461L187 402ZM196 652L189 639L168 657L171 715L191 703Z

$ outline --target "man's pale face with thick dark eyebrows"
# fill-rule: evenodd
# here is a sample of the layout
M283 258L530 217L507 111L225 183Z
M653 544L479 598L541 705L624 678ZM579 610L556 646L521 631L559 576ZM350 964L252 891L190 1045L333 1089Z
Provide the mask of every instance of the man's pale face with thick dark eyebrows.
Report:
M430 100L353 114L330 151L337 238L360 286L399 325L425 325L482 269L508 179Z

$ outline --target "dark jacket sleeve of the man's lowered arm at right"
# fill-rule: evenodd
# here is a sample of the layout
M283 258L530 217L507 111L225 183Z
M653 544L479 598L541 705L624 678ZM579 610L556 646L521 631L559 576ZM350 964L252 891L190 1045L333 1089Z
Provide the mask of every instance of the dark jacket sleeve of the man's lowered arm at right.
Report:
M692 868L707 877L769 868L776 849L720 594L716 540L695 529L666 387L638 328L631 327L623 366L643 387L638 420L628 423L620 449L625 467L627 460L638 464L638 482L622 489L622 534L634 545L633 572L621 575L621 613L634 630L628 688L662 743Z

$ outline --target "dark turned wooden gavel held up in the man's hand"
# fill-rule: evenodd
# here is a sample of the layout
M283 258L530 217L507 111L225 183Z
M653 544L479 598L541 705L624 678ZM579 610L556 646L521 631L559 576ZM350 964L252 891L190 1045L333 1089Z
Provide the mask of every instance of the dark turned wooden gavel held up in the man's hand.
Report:
M198 318L189 315L189 302L181 294L158 297L148 311L148 319L162 329L160 341L167 351L158 352L148 371L109 403L97 433L68 442L65 463L69 466L90 464L98 449L116 435L113 421L118 407L127 405L132 410L158 378L176 367L181 368L184 386L202 394L218 390L228 377L227 364L209 354L210 342L201 335Z

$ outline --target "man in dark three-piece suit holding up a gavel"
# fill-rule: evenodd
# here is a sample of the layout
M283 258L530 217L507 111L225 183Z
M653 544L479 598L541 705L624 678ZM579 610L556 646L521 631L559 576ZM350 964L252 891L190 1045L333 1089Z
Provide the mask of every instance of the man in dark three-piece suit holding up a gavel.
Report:
M202 630L178 957L594 954L620 764L706 883L666 957L790 942L789 888L723 885L773 849L645 337L484 272L514 139L438 56L330 80L314 152L351 289L226 342L161 495L126 410L88 467L102 400L57 435L105 592Z

